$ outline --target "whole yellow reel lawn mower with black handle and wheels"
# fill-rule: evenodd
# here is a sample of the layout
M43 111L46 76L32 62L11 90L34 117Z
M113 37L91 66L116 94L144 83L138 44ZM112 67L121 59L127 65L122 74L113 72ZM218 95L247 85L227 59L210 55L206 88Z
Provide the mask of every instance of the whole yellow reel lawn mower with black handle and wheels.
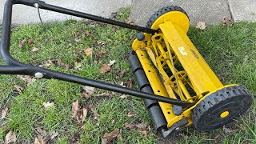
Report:
M129 62L139 90L81 78L71 74L18 62L10 55L10 25L14 4L32 6L138 30ZM143 98L157 130L166 138L182 127L215 130L238 118L253 102L249 91L239 85L223 86L186 35L190 20L178 6L155 12L146 27L117 22L38 0L7 0L2 21L1 56L8 66L0 74L24 74L110 90Z

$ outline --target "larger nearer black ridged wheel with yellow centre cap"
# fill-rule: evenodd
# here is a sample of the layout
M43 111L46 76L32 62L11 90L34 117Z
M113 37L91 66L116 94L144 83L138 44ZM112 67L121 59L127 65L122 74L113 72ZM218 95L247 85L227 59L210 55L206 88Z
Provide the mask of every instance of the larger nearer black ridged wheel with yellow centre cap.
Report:
M210 94L192 110L194 127L215 130L232 122L250 108L253 98L242 86L229 86Z

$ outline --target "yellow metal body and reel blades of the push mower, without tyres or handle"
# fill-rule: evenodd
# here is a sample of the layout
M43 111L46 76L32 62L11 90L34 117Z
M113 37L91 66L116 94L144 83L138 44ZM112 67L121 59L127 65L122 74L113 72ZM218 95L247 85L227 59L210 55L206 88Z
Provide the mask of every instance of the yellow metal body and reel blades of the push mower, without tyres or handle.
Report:
M167 127L170 128L182 118L187 118L190 125L191 110L208 95L227 86L222 85L187 37L189 19L186 14L168 12L158 18L151 28L160 30L160 33L145 34L145 41L135 39L132 47L142 63L154 94L169 98L177 98L178 95L183 101L197 102L183 110L181 115L173 113L173 105L159 102ZM190 94L191 90L194 95Z

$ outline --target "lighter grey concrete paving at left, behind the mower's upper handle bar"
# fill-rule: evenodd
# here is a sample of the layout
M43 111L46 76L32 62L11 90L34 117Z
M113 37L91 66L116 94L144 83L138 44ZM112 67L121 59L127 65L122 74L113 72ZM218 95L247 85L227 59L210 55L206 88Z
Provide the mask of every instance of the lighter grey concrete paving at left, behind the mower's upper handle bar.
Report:
M111 13L116 12L121 7L130 6L132 0L42 0L54 6L62 6L71 10L78 10L88 14L95 14L105 18L110 17ZM0 0L0 24L2 23L3 7L6 0ZM80 19L66 14L58 14L55 12L40 10L43 22L63 21L69 18ZM14 5L12 23L27 24L40 22L38 18L38 10L23 5Z

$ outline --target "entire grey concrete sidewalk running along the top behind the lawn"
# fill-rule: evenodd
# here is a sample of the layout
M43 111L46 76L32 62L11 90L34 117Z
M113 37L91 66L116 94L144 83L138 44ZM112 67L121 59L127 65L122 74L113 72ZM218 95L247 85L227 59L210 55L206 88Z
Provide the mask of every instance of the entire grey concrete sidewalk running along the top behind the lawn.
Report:
M0 0L0 24L5 2L6 0ZM186 10L191 24L198 21L213 24L221 22L222 18L234 18L235 22L256 22L256 0L45 0L45 2L104 18L110 17L111 13L121 7L131 6L130 20L140 26L146 25L154 11L168 5L181 6ZM43 22L79 19L46 10L41 10L41 15ZM14 6L12 22L14 24L39 22L38 12L29 6Z

